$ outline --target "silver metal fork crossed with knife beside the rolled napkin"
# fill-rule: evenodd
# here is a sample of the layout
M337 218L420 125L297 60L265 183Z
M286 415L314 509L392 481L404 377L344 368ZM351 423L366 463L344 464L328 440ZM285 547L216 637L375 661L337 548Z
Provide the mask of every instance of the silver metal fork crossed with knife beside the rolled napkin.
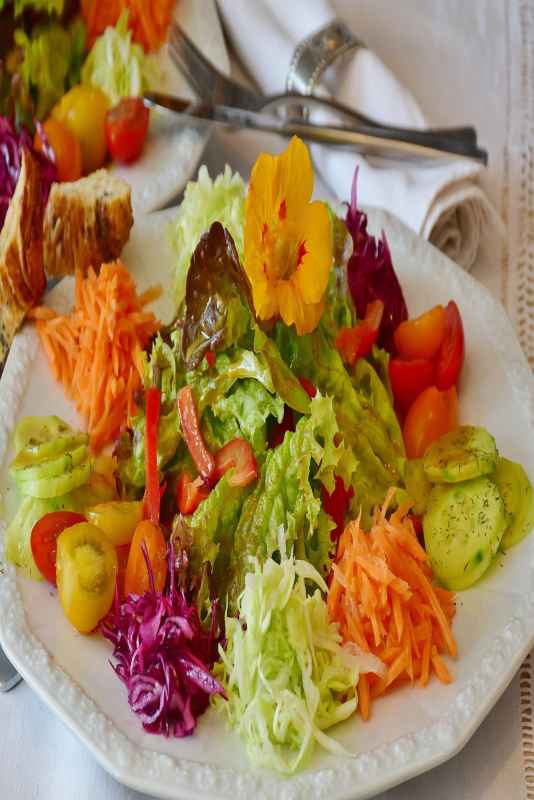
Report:
M333 99L318 97L317 95L302 95L296 92L281 92L280 94L262 95L247 89L240 83L223 75L198 49L189 38L179 23L174 20L169 36L169 53L176 66L183 73L193 91L202 100L209 100L213 104L234 106L249 111L270 111L291 109L292 106L306 106L334 112L337 116L350 120L357 125L376 128L380 131L389 130L392 135L402 138L403 134L424 137L428 145L435 145L443 136L456 139L463 144L476 146L476 130L472 126L459 128L432 128L426 131L413 128L397 128L384 125L365 114L356 111L343 103Z

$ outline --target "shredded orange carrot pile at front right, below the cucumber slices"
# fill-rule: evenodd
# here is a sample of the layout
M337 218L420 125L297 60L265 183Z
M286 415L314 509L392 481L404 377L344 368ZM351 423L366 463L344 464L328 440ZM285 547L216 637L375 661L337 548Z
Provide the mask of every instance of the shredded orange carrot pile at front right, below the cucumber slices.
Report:
M431 671L450 683L442 654L457 654L451 623L454 594L432 585L432 570L419 544L408 506L386 516L391 489L369 534L359 520L342 533L328 591L330 618L345 641L372 652L384 676L361 674L359 709L369 719L374 698L401 683L428 683Z

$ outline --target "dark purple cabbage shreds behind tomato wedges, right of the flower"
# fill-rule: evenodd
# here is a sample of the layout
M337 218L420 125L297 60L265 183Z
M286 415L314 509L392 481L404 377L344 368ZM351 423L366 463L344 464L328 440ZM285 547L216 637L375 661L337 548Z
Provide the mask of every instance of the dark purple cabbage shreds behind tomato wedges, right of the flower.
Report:
M367 232L367 214L360 211L357 205L357 179L358 168L354 173L351 200L345 218L353 243L353 252L347 263L347 280L360 319L365 317L368 303L373 300L382 300L384 303L378 345L394 354L393 334L397 326L408 319L408 309L393 269L386 234L382 231L381 238L377 240Z

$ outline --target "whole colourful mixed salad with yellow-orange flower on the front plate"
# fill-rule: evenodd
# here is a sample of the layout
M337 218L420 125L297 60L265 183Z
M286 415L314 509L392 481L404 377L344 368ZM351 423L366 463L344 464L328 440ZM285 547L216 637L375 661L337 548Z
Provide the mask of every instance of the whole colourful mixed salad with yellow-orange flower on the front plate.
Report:
M455 593L534 524L524 469L460 419L460 309L410 318L356 181L341 214L312 201L298 138L248 189L201 168L173 324L119 262L33 310L81 430L21 419L10 468L7 559L109 640L144 728L211 706L283 774L346 754L335 725L383 694L452 681Z

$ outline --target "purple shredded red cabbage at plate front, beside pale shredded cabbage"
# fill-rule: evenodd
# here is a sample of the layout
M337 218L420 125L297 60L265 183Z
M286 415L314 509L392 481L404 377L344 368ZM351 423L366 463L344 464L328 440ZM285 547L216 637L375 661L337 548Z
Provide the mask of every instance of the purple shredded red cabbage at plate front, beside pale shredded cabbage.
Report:
M211 695L225 692L211 673L221 635L217 607L211 628L202 626L196 606L175 588L174 551L169 553L165 592L154 590L148 554L144 551L151 589L119 602L100 628L113 644L113 669L128 690L128 702L149 733L190 736Z

